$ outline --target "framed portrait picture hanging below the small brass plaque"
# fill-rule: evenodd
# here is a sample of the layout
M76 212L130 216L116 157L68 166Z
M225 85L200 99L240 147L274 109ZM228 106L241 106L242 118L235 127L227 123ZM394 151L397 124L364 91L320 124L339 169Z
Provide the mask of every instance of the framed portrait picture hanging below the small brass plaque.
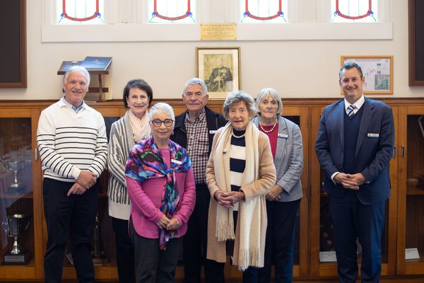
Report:
M196 47L196 76L211 100L227 98L240 89L240 47Z

